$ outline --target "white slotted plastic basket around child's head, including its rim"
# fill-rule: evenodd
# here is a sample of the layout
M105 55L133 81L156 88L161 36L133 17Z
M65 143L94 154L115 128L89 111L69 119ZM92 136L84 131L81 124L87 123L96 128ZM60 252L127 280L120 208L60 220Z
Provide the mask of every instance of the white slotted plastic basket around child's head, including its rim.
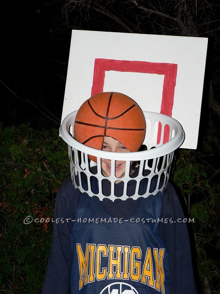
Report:
M169 178L173 152L184 141L184 132L175 119L159 113L143 111L146 119L145 151L114 153L97 150L76 141L73 133L77 111L70 113L62 122L60 135L68 144L71 177L76 188L89 196L107 197L114 201L120 198L148 197L162 191ZM132 138L131 138L132 139ZM89 159L97 158L97 164ZM111 161L111 175L101 173L101 158ZM125 161L123 178L115 176L115 162ZM131 174L131 168L134 171ZM117 186L120 185L120 193ZM106 186L108 190L106 191ZM132 186L132 189L130 187Z

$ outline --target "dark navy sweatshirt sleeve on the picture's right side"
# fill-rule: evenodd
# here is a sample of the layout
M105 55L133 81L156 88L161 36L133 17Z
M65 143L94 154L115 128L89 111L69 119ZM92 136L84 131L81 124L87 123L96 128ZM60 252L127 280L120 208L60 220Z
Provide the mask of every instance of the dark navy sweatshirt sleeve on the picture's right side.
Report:
M170 183L163 191L161 218L171 219L167 223L160 222L158 227L158 234L169 251L171 294L197 294L187 224L178 221L185 216Z

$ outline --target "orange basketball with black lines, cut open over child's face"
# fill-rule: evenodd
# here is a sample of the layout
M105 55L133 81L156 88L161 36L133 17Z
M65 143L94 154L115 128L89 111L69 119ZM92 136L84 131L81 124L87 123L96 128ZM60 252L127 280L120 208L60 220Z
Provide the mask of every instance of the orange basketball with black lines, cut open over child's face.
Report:
M146 131L144 114L130 97L117 93L98 93L79 108L75 139L86 146L102 149L104 136L121 142L129 151L141 147Z

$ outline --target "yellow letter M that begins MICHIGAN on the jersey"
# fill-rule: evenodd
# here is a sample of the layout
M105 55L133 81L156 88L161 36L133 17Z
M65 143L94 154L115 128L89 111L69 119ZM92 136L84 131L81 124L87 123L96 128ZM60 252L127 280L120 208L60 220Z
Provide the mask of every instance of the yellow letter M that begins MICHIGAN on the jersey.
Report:
M83 286L83 279L84 284L88 283L88 259L89 259L89 244L86 245L86 255L82 252L82 248L80 244L77 244L77 253L78 253L78 260L79 260L79 289Z

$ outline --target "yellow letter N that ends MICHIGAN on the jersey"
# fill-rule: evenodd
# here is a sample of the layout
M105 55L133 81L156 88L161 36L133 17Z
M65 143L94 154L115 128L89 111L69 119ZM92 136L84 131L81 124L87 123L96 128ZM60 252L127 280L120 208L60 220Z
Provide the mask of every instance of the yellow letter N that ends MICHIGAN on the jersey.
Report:
M160 262L158 260L158 249L154 248L153 250L153 255L156 263L156 282L155 282L155 288L157 290L160 290L161 286L161 291L164 293L164 270L163 270L163 254L164 254L164 249L160 249Z

